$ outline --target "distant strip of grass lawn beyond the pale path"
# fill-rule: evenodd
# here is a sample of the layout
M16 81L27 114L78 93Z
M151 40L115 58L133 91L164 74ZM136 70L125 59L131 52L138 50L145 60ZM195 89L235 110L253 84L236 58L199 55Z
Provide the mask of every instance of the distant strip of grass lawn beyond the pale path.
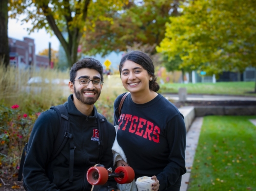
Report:
M205 94L230 94L243 96L256 96L254 91L255 82L216 82L213 83L166 83L160 85L161 93L178 93L180 87L186 87L188 93L205 93Z

